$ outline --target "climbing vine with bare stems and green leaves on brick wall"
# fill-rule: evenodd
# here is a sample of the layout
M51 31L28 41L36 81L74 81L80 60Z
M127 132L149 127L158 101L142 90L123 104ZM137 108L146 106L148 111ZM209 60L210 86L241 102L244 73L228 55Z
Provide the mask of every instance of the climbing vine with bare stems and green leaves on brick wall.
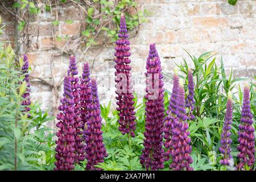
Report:
M65 16L64 20L60 19L61 11L71 8L75 9L75 13L80 19L73 20L70 16ZM56 80L52 71L53 60L57 56L72 55L77 48L80 48L85 55L91 47L101 46L102 50L105 45L114 43L118 38L121 14L126 16L127 29L130 38L133 38L138 35L140 24L147 21L144 14L148 14L146 10L138 9L137 0L5 0L0 1L0 12L10 14L16 21L15 38L18 40L15 42L15 52L17 54L27 53L33 48L38 48L40 26L31 28L32 22L43 22L46 18L52 21L51 46L55 52L52 53L50 61L51 77L50 79L34 78L51 87L53 113L57 111L58 90L65 76L62 75L60 79ZM76 35L58 34L63 22L72 26L74 21L81 23ZM103 35L103 39L99 38L101 35ZM60 42L64 42L64 44L60 44Z

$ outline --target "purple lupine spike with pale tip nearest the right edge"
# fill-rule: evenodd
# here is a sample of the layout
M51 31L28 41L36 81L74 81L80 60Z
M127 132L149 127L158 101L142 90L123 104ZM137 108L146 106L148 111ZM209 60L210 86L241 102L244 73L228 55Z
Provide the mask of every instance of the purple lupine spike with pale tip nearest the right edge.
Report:
M245 166L251 167L255 161L255 137L253 127L253 114L251 114L250 106L250 87L246 85L243 89L243 106L242 106L242 118L238 131L237 150L239 151L237 158L239 164L238 170L245 170Z

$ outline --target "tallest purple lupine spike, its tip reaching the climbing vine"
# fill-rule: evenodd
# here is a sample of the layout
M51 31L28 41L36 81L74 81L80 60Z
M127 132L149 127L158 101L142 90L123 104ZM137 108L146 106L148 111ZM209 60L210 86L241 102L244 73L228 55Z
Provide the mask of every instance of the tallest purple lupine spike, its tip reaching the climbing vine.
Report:
M117 91L115 92L117 94L117 110L119 111L119 131L123 135L130 134L131 137L135 137L134 130L135 130L135 107L133 106L133 85L131 83L131 67L130 63L131 60L129 59L129 56L131 55L130 51L130 42L127 40L128 34L127 34L127 28L125 23L125 16L121 15L120 19L120 30L118 34L119 39L117 42L115 42L115 82L117 84L115 87L117 88ZM119 88L118 88L119 87Z

